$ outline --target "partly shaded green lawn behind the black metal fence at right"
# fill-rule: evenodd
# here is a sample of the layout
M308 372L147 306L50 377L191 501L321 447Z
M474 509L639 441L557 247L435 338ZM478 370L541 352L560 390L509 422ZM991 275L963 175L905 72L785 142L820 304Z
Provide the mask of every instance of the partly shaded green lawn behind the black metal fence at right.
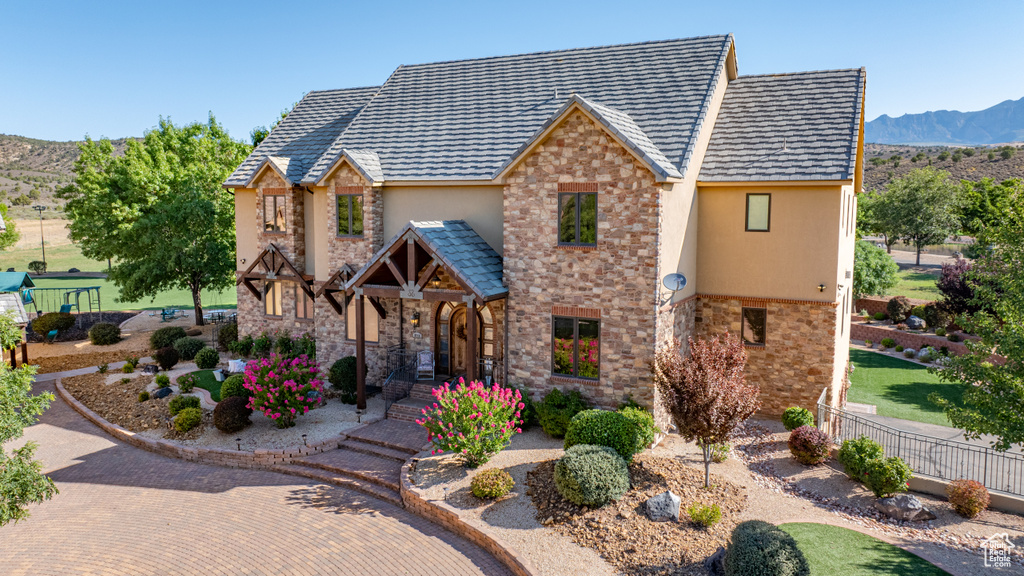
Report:
M938 393L954 404L963 398L964 384L943 382L913 362L862 349L851 349L850 361L856 369L847 400L873 404L880 416L948 426L945 413L928 395Z

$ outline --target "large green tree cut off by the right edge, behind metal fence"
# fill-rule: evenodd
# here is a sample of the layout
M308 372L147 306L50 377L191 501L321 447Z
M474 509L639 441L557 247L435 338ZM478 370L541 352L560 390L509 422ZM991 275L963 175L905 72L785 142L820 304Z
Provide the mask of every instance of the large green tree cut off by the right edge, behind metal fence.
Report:
M1024 186L1015 188L1004 217L979 241L990 248L969 274L981 310L958 317L956 324L980 339L965 341L971 354L934 369L945 381L969 384L963 406L930 398L967 438L992 435L998 439L993 447L1008 450L1024 446ZM989 362L992 354L1006 362Z

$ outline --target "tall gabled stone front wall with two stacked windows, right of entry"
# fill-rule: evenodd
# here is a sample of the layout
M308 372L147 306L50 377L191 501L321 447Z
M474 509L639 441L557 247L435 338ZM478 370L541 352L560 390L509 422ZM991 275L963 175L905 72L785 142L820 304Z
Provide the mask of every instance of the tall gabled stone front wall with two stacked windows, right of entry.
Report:
M535 398L578 388L613 407L628 396L652 406L660 187L641 163L580 111L512 170L504 193L508 362L512 383ZM559 184L596 184L597 246L558 245ZM565 186L569 184L569 186ZM601 321L600 379L552 376L552 316Z

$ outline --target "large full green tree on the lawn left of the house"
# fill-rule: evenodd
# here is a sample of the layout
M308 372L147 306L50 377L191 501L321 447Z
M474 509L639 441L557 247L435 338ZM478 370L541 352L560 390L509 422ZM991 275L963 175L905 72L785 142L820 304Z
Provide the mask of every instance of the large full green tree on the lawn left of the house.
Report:
M203 291L234 282L234 200L221 182L251 147L211 115L185 126L162 118L123 156L106 139L79 149L75 183L58 192L71 239L89 258L117 260L109 276L120 299L185 289L202 326Z

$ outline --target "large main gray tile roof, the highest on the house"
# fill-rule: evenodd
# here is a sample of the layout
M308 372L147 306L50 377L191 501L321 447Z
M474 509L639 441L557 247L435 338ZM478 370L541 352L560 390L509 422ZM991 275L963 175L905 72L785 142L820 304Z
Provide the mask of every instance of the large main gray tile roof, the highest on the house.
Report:
M616 111L652 160L682 173L731 44L722 35L399 67L302 181L343 149L376 152L387 180L490 179L573 94Z

